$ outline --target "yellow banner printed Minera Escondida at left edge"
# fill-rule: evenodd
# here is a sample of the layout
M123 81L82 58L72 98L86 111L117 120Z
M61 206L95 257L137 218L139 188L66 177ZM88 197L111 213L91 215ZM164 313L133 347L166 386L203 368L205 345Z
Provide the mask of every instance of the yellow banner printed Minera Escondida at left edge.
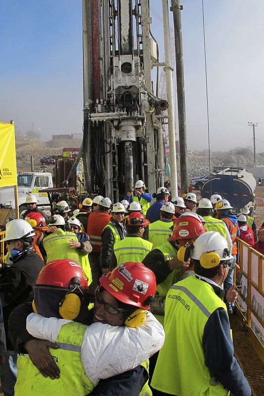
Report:
M17 175L14 125L0 122L0 143L0 187L15 186Z

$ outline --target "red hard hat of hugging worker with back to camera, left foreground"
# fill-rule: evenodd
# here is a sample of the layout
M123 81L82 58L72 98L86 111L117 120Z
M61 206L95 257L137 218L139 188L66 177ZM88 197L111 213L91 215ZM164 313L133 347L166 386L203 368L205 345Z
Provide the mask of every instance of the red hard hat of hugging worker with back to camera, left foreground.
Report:
M82 267L71 260L54 260L46 264L41 270L36 286L56 286L71 289L74 284L80 288L88 289L87 277Z

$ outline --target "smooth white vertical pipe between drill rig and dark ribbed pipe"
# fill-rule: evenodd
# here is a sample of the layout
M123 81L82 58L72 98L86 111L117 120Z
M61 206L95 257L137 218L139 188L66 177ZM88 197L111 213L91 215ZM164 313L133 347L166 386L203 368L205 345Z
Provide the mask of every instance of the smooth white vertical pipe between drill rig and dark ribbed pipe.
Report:
M174 99L173 99L173 67L171 61L171 40L170 40L170 21L168 0L162 0L163 29L164 29L164 48L166 72L166 88L168 107L168 129L169 129L169 146L170 146L170 167L171 167L171 189L172 197L178 196L177 187L177 164L176 164L176 142L175 142L175 122L174 122Z

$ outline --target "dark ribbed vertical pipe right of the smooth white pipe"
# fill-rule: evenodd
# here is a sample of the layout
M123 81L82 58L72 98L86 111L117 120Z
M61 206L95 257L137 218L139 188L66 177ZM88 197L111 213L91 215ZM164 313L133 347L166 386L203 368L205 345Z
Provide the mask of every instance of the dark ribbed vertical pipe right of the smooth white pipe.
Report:
M189 178L188 178L183 51L182 51L182 34L181 34L181 15L180 15L182 9L183 7L180 5L180 0L172 0L171 10L173 11L173 19L174 19L175 53L176 53L180 185L181 185L181 193L187 194L189 188Z

